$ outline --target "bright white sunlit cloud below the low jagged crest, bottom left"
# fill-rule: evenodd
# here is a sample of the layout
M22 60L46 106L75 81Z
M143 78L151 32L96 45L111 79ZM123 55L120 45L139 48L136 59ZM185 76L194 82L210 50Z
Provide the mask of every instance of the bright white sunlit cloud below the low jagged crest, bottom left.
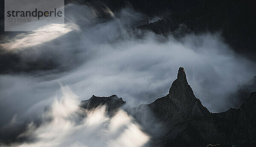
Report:
M32 137L32 143L18 147L141 147L150 137L140 130L131 116L119 110L115 116L105 116L105 107L85 111L78 107L79 99L69 87L62 88L62 97L56 98L52 110L43 114L43 123L20 137ZM62 101L61 101L62 100ZM86 116L86 117L81 117ZM49 121L50 118L50 121Z

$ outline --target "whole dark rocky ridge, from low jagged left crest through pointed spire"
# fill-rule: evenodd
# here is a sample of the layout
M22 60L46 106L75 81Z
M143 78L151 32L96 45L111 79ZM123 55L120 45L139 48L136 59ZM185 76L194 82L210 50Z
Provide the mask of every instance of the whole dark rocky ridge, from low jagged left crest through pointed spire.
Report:
M152 146L256 146L256 92L250 93L239 109L210 113L195 97L187 82L185 70L181 67L166 96L135 108L125 104L116 95L93 95L81 101L79 106L92 109L106 105L111 115L119 108L124 109L134 116L145 132L151 134ZM158 133L155 133L156 129Z

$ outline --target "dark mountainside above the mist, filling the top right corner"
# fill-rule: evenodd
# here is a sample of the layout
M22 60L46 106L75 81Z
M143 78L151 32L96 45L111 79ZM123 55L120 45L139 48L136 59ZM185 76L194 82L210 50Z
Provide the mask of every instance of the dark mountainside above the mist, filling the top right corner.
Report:
M194 32L222 32L225 41L239 54L255 61L256 9L247 0L78 0L92 5L108 6L118 11L131 6L149 17L163 17L154 23L139 26L157 34L175 37ZM68 2L68 0L67 0ZM96 4L97 3L97 4Z

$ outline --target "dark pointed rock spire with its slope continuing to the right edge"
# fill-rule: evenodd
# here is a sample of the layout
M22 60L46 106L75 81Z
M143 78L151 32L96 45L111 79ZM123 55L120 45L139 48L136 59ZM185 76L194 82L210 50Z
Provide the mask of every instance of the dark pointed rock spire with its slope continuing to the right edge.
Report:
M255 96L255 93L251 93L239 109L230 108L223 113L209 113L200 100L195 98L187 83L184 69L180 68L169 94L147 105L168 126L156 145L255 145Z

